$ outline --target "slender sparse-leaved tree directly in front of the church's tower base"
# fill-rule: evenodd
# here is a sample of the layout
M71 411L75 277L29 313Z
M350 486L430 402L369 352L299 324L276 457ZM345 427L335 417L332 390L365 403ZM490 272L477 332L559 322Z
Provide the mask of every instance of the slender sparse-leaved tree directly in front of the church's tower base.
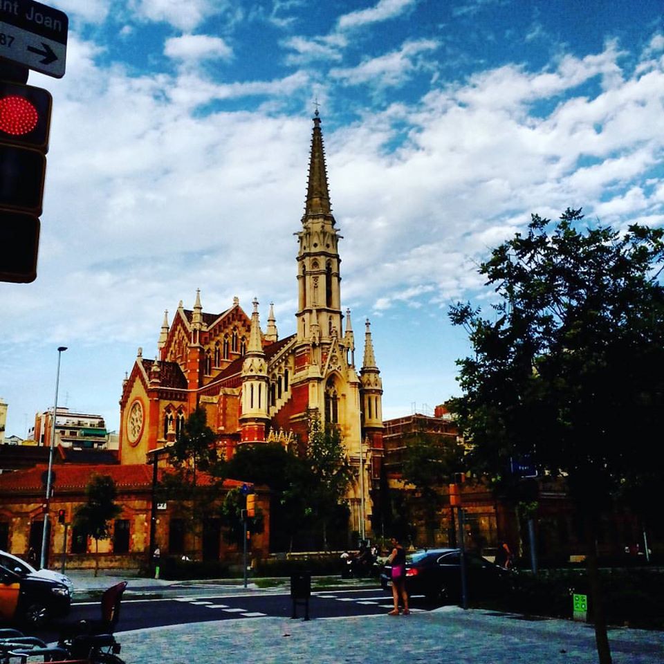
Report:
M313 476L311 485L306 489L308 505L305 513L321 524L323 548L327 550L328 529L353 481L353 471L339 427L329 423L323 427L320 414L315 410L308 412L308 425L306 460Z

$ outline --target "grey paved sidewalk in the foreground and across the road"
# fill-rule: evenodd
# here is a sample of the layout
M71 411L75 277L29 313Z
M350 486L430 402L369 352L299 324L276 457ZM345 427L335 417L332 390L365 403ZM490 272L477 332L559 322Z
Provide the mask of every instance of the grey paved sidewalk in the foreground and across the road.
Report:
M192 582L72 571L78 592L120 580L136 588L176 589ZM242 580L205 580L243 591ZM345 584L344 584L345 585ZM250 584L252 592L265 592ZM116 634L127 664L596 664L591 625L459 607L411 616L288 620L239 618ZM664 633L609 630L614 664L664 664Z

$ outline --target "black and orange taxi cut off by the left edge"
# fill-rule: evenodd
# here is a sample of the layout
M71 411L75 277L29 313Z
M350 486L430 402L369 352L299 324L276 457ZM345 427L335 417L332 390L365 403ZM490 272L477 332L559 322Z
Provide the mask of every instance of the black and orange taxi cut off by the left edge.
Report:
M48 618L66 616L70 607L64 583L0 565L0 623L42 625Z

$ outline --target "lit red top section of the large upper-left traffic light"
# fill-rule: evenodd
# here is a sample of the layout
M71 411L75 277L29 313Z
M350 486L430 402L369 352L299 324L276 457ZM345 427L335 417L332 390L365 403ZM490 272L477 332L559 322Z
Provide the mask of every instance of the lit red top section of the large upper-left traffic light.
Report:
M0 81L0 142L48 151L48 90Z

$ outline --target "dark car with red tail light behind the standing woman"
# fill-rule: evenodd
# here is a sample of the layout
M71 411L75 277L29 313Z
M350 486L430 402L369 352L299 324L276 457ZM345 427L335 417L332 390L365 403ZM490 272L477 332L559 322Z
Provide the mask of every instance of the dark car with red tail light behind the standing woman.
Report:
M430 548L406 556L406 590L427 600L457 602L461 598L460 551L458 548ZM509 572L470 551L465 552L468 597L495 596L506 587ZM390 565L380 574L384 590L391 589Z

